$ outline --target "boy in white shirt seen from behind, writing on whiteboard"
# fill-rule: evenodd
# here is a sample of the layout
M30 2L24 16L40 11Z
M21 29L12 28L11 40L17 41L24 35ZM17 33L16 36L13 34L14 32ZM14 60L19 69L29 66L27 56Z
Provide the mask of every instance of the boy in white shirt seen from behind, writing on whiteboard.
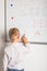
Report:
M4 71L24 71L24 54L28 51L27 38L22 37L20 42L20 31L11 28L9 31L11 44L4 49L3 69Z

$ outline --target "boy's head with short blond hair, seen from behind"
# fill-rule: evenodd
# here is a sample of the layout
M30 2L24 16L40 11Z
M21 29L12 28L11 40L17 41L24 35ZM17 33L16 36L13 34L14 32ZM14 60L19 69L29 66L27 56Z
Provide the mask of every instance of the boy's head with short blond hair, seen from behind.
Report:
M19 42L20 40L20 31L16 27L10 28L9 36L11 42Z

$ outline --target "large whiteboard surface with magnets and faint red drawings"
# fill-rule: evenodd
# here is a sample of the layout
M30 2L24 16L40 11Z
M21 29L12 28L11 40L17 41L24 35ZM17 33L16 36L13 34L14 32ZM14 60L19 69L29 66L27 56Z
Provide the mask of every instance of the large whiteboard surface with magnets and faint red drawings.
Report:
M5 0L5 32L17 27L28 42L47 43L46 0Z

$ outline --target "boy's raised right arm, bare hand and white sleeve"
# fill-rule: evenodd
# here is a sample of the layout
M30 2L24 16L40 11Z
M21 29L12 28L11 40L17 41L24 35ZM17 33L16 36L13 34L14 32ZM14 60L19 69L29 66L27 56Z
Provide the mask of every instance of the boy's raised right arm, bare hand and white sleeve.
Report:
M22 37L22 42L24 45L24 54L30 52L31 51L31 44L28 44L28 39L25 37L25 35Z

